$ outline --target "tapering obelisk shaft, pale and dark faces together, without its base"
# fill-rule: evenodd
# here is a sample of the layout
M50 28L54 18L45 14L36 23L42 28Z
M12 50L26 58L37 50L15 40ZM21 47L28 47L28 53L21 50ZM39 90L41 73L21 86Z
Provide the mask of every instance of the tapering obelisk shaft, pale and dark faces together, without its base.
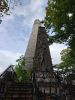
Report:
M40 21L34 21L32 33L25 53L26 67L33 66L40 70L52 70L52 61L49 51L47 33Z

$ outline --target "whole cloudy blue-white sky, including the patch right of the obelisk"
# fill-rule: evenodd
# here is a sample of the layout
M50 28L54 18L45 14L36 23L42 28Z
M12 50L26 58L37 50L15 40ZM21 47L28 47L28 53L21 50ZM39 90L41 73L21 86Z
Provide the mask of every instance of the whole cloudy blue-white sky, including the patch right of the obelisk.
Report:
M10 16L4 16L0 24L0 72L10 64L15 64L24 55L35 19L44 19L47 0L23 0ZM60 52L65 45L50 46L53 64L60 62Z

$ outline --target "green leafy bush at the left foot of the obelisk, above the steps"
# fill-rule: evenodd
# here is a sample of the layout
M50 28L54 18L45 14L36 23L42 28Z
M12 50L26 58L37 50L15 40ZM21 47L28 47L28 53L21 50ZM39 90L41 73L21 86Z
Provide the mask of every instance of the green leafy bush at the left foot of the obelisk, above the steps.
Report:
M15 66L15 72L19 82L28 82L31 80L31 69L23 69L25 68L25 58L21 56L17 60L18 64Z

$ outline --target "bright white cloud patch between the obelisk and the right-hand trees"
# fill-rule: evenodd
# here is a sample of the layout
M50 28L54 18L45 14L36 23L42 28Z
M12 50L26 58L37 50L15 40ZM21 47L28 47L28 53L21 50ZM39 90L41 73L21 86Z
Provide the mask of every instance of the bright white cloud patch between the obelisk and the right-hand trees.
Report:
M51 58L52 58L52 63L53 64L59 64L61 62L61 55L60 52L67 48L64 44L56 44L54 43L50 47L50 52L51 52Z

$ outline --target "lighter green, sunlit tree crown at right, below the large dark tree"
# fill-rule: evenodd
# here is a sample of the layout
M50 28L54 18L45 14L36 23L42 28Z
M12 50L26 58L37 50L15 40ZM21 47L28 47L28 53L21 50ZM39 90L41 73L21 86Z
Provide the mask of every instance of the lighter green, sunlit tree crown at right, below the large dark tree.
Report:
M72 69L75 66L75 59L73 59L70 55L70 48L64 49L61 51L61 63L59 64L59 67L62 69Z

